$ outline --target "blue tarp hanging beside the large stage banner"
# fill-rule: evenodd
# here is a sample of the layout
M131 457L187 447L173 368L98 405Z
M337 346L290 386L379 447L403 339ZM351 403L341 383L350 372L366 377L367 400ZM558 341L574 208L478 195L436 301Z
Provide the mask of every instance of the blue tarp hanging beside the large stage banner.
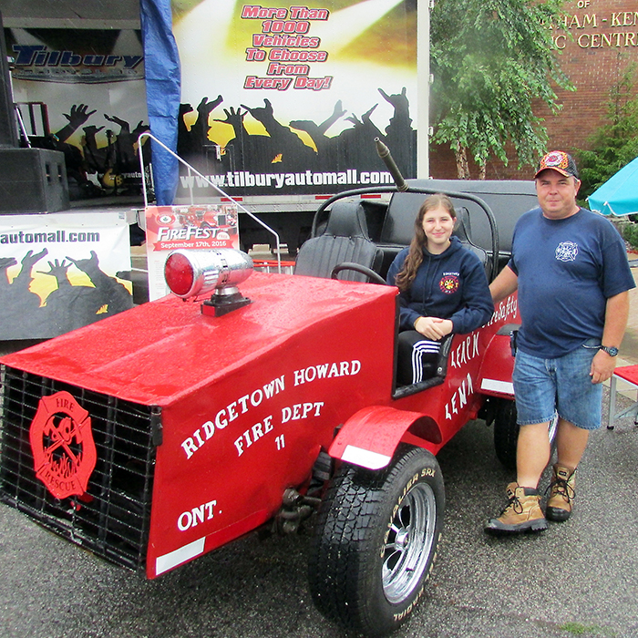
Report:
M140 0L139 11L150 133L176 151L180 55L172 32L170 0ZM155 198L159 206L169 206L177 190L179 162L159 144L151 143Z

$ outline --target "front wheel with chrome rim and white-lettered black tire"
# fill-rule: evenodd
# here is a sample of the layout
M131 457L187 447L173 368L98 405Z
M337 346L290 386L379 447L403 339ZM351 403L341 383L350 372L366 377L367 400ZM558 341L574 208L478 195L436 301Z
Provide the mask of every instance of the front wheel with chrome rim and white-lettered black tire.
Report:
M319 510L310 591L345 630L382 636L404 623L437 554L445 489L437 459L403 448L388 468L343 466Z

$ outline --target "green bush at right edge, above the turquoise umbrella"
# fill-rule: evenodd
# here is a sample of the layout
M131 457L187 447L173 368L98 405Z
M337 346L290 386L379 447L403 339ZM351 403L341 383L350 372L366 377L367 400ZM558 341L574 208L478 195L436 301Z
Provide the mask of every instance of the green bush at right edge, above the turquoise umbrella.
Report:
M575 151L581 176L583 200L612 175L638 157L638 70L633 62L610 90L607 121L588 140L590 149Z

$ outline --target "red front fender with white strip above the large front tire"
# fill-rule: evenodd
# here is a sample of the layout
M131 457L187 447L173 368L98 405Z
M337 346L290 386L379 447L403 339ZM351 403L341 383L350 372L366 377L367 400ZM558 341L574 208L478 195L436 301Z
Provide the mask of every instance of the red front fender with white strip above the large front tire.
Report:
M407 430L431 443L442 440L441 431L431 417L394 407L370 406L345 422L328 453L362 468L385 468Z

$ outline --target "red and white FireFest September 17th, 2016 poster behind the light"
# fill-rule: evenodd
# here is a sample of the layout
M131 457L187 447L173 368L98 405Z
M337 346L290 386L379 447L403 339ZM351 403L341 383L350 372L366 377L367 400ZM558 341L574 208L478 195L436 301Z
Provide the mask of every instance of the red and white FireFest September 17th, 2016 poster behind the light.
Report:
M164 263L178 248L205 251L239 248L236 204L149 206L146 209L146 254L149 299L170 293Z

